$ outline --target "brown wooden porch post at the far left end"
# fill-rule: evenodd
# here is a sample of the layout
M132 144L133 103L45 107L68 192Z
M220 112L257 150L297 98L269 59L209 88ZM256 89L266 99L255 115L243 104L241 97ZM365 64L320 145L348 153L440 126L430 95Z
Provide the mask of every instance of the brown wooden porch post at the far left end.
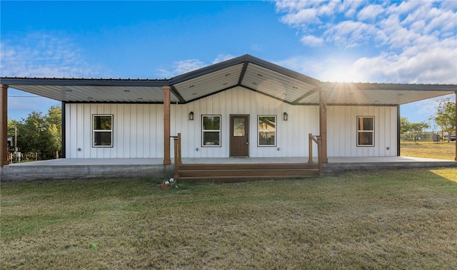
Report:
M8 85L0 85L0 166L8 165Z

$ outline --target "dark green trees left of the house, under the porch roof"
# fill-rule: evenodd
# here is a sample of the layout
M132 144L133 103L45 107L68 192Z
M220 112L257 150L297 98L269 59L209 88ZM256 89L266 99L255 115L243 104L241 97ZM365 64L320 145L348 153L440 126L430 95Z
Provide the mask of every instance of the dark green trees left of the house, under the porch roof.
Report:
M32 112L22 120L8 121L8 137L15 137L20 152L38 152L41 159L50 152L61 152L62 148L62 110L51 106L48 113ZM14 139L12 142L14 147Z

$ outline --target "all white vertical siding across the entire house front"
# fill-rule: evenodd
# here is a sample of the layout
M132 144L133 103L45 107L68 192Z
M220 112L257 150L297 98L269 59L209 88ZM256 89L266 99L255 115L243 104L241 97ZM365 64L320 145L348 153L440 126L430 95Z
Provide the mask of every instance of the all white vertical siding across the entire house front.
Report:
M164 105L69 103L65 106L66 157L164 157ZM327 108L328 157L396 155L396 107ZM229 157L230 115L249 115L250 157L308 157L308 133L319 134L317 105L289 105L241 87L187 104L171 104L170 112L171 135L181 133L182 157ZM194 112L194 120L189 120L190 112ZM288 114L287 121L283 120L284 112ZM97 114L114 116L113 147L92 147L92 116ZM201 146L201 115L221 115L221 147ZM276 115L275 146L258 146L258 115ZM375 117L375 147L356 146L357 116ZM174 144L170 140L171 157L174 157ZM315 144L313 152L317 153Z

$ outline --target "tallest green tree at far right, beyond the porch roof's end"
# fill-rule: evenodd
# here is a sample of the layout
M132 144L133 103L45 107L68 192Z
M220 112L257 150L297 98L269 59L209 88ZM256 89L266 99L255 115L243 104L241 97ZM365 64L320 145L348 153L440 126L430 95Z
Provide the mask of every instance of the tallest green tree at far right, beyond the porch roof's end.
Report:
M439 100L436 115L432 115L430 119L435 121L441 130L448 133L448 142L450 142L451 134L456 130L456 103L449 98Z

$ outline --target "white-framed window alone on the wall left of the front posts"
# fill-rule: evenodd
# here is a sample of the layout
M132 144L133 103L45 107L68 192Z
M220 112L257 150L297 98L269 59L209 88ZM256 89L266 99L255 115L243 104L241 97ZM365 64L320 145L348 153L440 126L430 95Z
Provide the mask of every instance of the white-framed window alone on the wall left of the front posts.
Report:
M93 147L113 146L113 115L94 115Z

